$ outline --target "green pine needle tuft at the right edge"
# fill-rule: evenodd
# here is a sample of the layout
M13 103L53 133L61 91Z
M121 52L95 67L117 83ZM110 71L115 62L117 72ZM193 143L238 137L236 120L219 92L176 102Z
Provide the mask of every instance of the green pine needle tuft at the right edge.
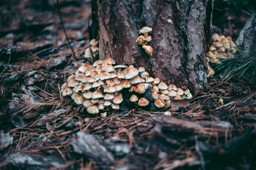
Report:
M256 34L247 42L250 49L236 48L233 56L221 58L221 64L214 65L215 72L221 75L223 81L232 77L249 82L256 82Z

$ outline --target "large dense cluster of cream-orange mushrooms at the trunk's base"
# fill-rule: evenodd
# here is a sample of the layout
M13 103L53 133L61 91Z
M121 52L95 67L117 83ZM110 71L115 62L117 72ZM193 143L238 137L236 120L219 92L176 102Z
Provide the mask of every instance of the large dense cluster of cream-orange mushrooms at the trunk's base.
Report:
M150 102L156 108L169 107L171 99L192 98L189 89L183 91L175 85L166 85L158 78L149 77L143 67L116 65L109 57L103 61L97 60L93 65L82 65L61 86L62 96L71 96L76 104L83 105L91 114L107 109L119 110L125 89L132 94L127 100L141 107ZM141 96L144 94L150 95L151 100ZM105 115L105 112L102 114Z

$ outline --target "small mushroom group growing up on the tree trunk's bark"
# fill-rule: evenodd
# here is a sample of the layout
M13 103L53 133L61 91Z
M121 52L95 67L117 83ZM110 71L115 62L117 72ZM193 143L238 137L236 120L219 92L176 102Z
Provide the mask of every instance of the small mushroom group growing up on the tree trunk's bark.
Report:
M137 38L136 42L138 42L138 44L143 45L142 48L145 49L146 53L148 53L150 56L153 53L153 48L148 45L148 42L150 42L152 40L152 37L150 35L148 35L148 32L151 32L152 28L149 27L143 27L140 29L140 34L144 34L143 35L139 35L139 37Z

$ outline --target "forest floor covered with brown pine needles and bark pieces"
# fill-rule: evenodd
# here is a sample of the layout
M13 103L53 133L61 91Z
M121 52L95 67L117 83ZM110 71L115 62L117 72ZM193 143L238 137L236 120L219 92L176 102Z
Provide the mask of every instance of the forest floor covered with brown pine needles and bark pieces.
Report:
M90 1L60 0L77 58L54 0L12 1L0 6L1 170L256 168L255 83L215 75L208 93L172 116L140 108L86 114L60 87L84 62ZM249 14L234 10L215 8L214 32L236 39Z

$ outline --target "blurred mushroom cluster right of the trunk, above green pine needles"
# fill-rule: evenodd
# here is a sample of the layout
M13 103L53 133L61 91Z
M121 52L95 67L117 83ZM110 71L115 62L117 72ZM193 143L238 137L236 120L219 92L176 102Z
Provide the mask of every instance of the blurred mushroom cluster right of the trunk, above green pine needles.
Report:
M232 41L231 37L224 35L213 34L212 45L206 53L206 59L210 63L220 64L221 60L226 56L232 56L231 53L236 52L236 44Z

